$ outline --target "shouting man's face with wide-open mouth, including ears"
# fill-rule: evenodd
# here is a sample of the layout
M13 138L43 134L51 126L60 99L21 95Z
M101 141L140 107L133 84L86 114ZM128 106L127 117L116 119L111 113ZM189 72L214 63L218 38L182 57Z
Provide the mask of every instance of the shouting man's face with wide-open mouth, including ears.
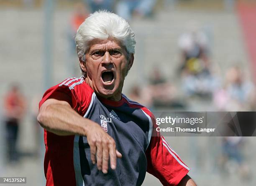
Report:
M85 55L85 64L80 61L87 84L96 94L113 101L121 99L125 75L133 64L133 55L115 40L93 40Z

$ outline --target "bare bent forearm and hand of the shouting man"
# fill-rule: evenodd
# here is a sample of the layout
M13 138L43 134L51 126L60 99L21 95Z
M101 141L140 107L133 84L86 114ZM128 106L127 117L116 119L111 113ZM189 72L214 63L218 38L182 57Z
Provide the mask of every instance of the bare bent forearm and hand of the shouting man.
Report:
M92 163L95 164L97 159L97 168L103 173L108 172L109 158L111 168L115 169L116 158L122 157L115 149L114 139L99 124L80 116L66 101L47 99L41 105L37 119L44 129L59 136L87 136Z

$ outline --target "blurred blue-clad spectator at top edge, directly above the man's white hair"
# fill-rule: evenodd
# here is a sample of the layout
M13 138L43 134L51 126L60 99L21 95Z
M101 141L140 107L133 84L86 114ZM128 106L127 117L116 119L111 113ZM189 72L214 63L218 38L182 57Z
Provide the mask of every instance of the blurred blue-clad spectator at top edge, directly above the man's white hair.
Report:
M92 13L97 10L108 10L110 12L114 10L115 0L86 0L86 2Z

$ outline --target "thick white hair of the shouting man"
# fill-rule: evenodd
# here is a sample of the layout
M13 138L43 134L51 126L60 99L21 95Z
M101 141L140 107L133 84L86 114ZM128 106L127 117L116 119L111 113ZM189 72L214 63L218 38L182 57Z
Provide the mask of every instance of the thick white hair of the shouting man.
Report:
M89 42L94 39L107 40L112 37L123 45L128 54L135 53L134 32L128 22L122 17L100 10L90 14L80 25L75 36L77 55L84 61L84 55L89 49Z

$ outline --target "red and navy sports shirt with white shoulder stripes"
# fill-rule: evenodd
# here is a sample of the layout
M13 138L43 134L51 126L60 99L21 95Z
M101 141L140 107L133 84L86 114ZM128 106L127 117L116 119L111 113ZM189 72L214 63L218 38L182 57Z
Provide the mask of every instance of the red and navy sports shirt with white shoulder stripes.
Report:
M58 136L44 131L46 186L139 186L146 171L165 186L175 186L189 168L172 150L159 132L154 115L141 104L122 94L119 102L97 97L84 77L68 78L46 91L46 99L69 102L81 116L101 125L113 137L123 155L115 170L103 174L92 164L90 146L85 136Z

